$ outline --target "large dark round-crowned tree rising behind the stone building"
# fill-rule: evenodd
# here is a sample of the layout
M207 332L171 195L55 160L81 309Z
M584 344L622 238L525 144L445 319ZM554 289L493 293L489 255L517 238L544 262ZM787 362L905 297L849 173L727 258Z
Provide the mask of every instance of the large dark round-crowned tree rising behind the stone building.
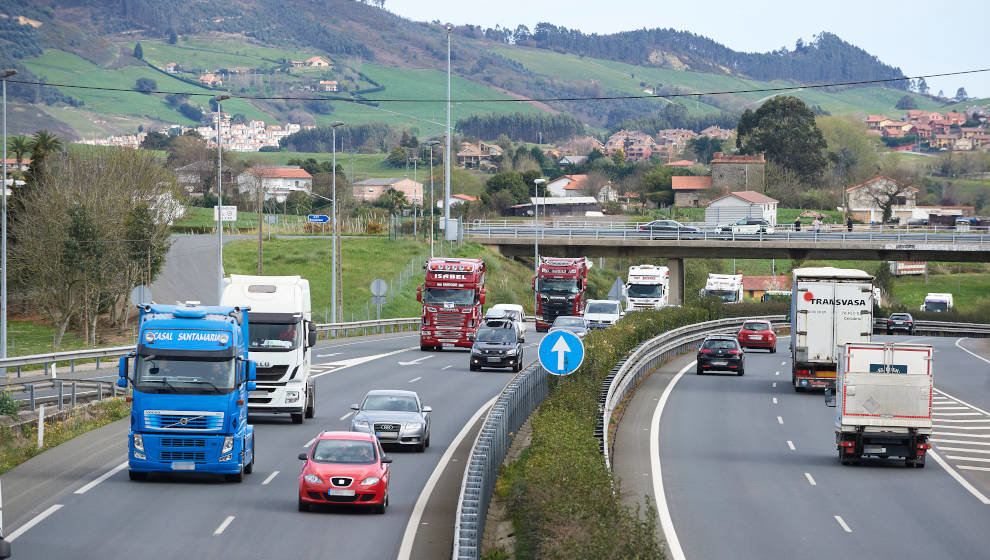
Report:
M812 183L825 170L826 144L815 114L797 97L778 95L755 112L747 109L736 129L743 153L766 153L767 159Z

